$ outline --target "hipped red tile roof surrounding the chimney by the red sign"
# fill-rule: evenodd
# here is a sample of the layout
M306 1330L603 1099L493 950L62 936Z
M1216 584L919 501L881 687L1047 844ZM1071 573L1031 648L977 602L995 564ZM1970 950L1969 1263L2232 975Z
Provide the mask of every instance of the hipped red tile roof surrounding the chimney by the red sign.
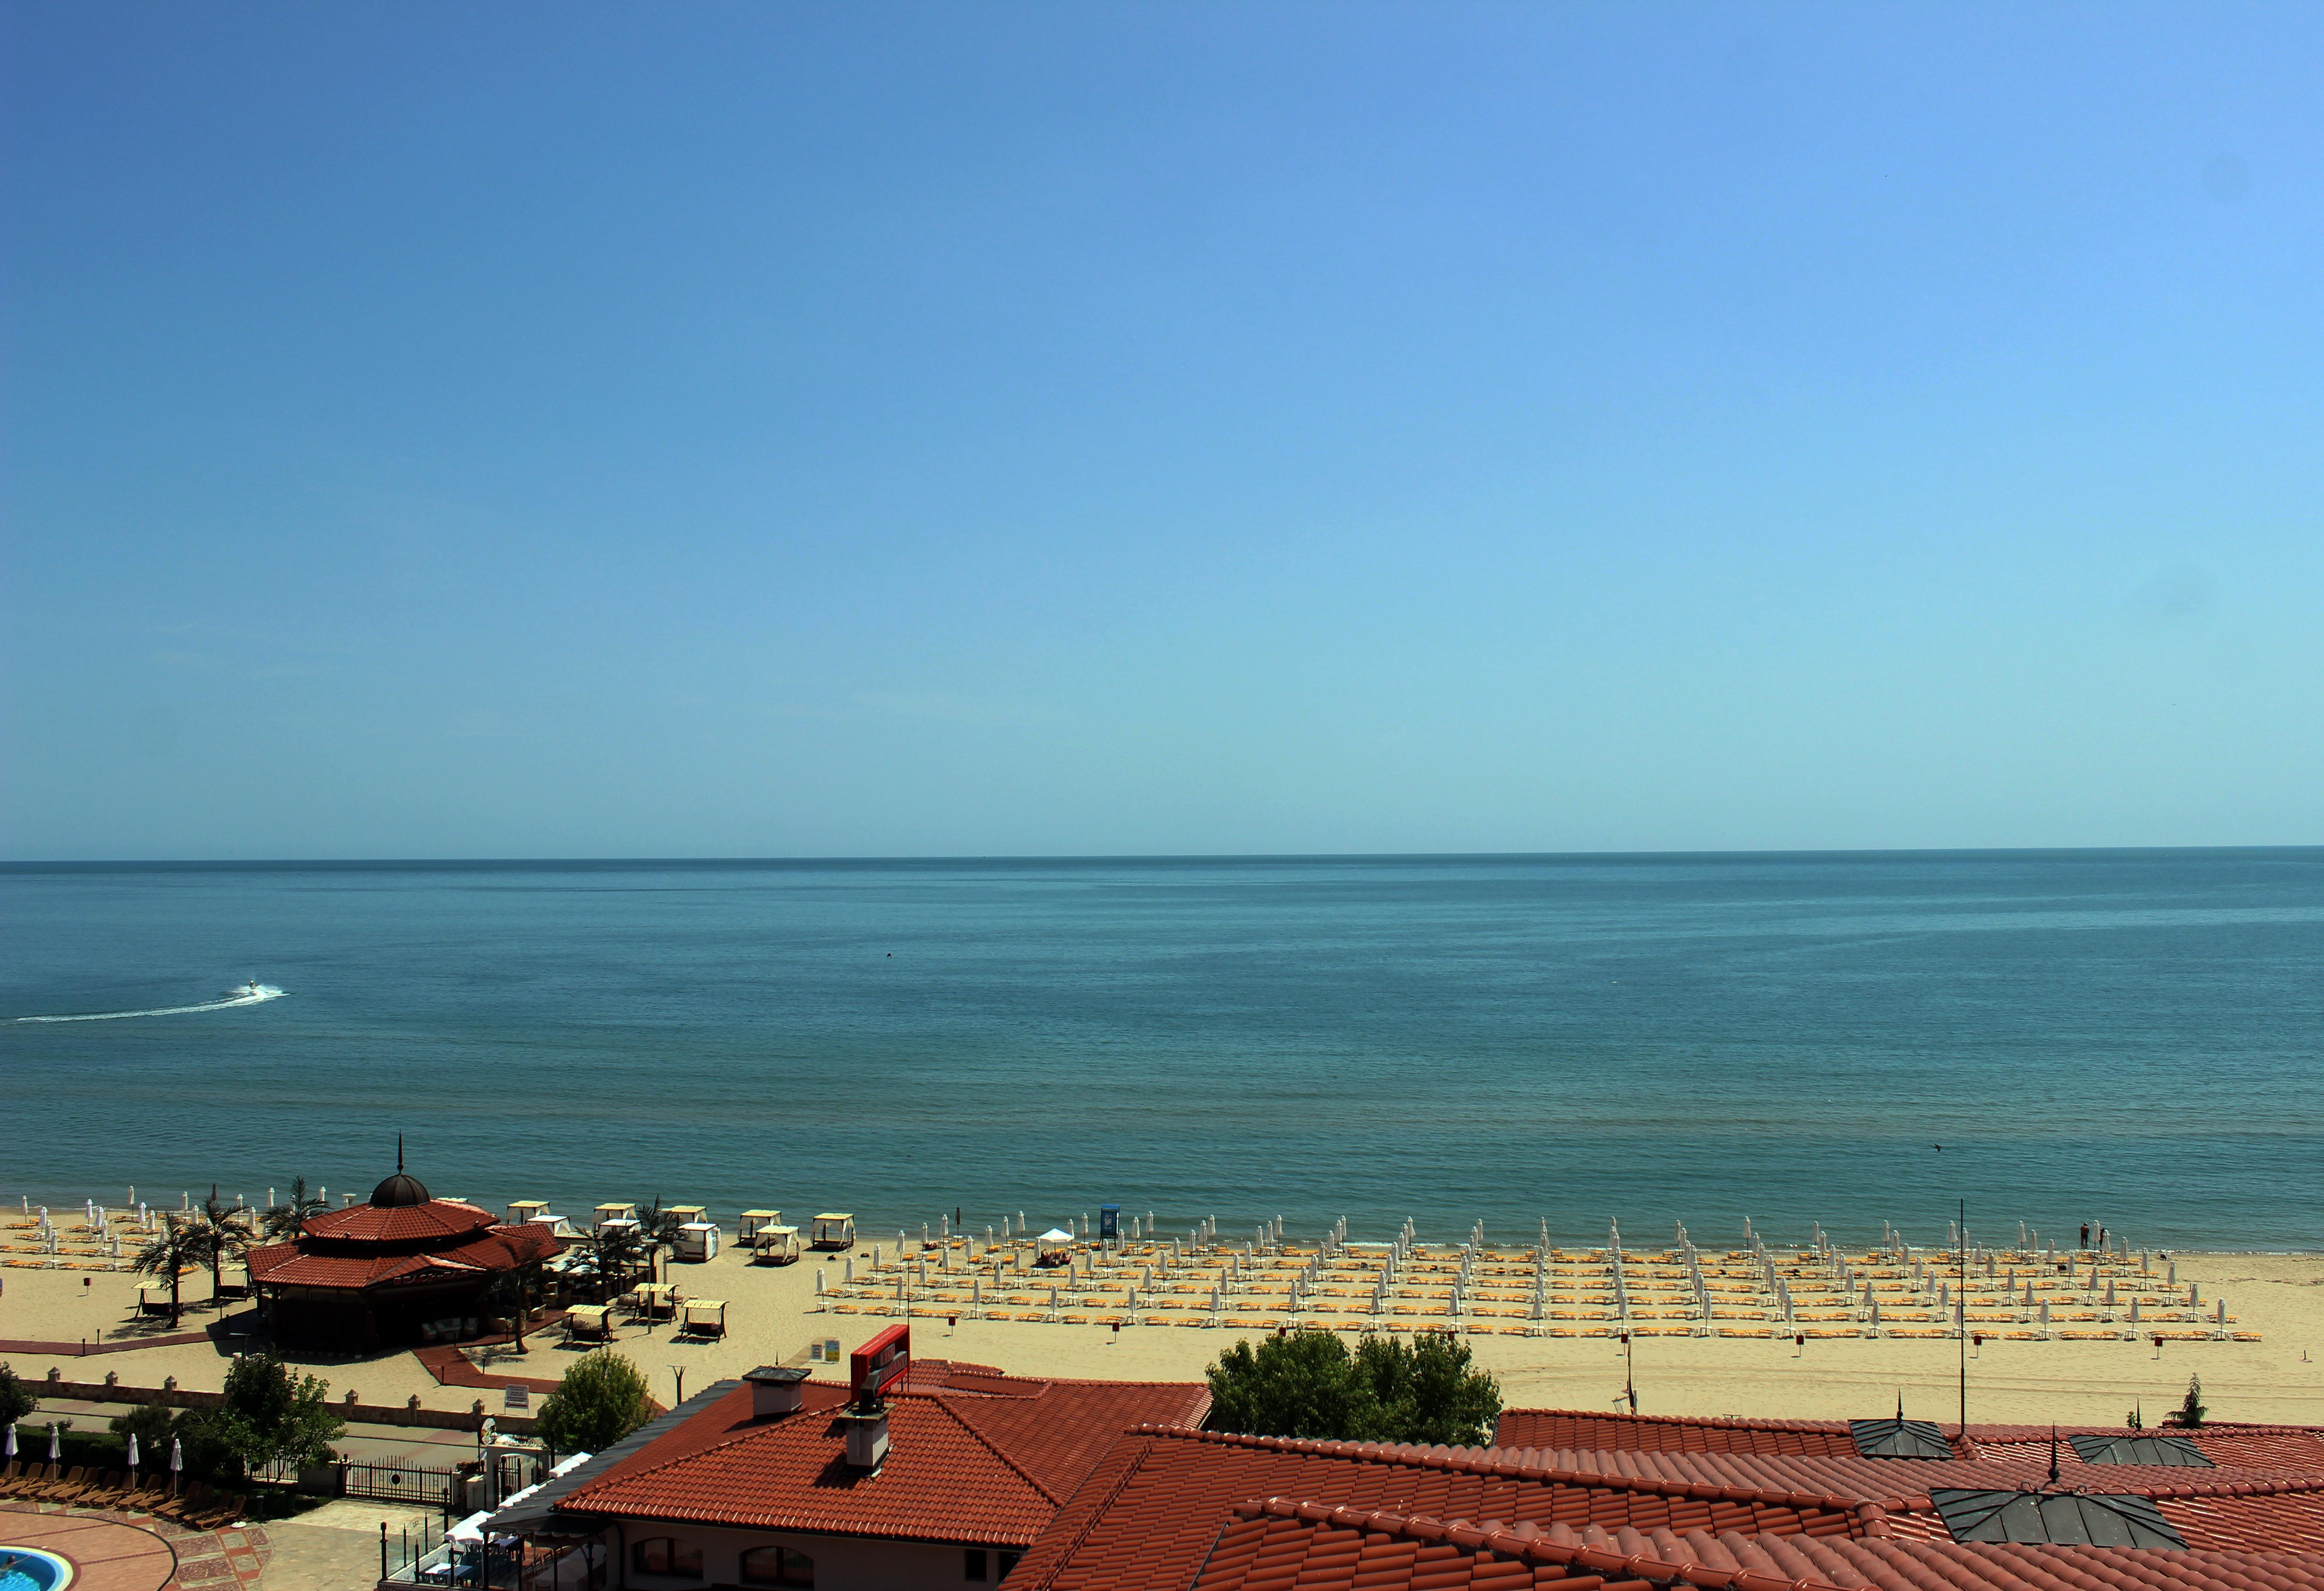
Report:
M913 1380L927 1380L916 1368ZM948 1380L948 1377L946 1377ZM888 1403L888 1461L846 1463L832 1417L846 1389L802 1384L804 1408L751 1417L751 1389L646 1445L558 1503L562 1512L690 1519L925 1542L1027 1547L1120 1431L1199 1419L1190 1382L1030 1382L1016 1394L904 1391Z

